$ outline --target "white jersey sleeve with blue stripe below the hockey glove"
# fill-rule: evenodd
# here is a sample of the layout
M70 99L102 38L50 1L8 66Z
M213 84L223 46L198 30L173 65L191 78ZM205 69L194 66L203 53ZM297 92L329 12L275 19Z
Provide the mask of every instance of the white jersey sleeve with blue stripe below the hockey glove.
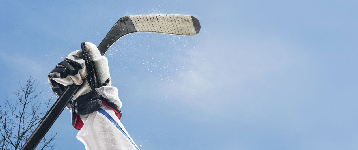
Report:
M104 104L88 115L77 139L86 150L139 150L115 112Z

